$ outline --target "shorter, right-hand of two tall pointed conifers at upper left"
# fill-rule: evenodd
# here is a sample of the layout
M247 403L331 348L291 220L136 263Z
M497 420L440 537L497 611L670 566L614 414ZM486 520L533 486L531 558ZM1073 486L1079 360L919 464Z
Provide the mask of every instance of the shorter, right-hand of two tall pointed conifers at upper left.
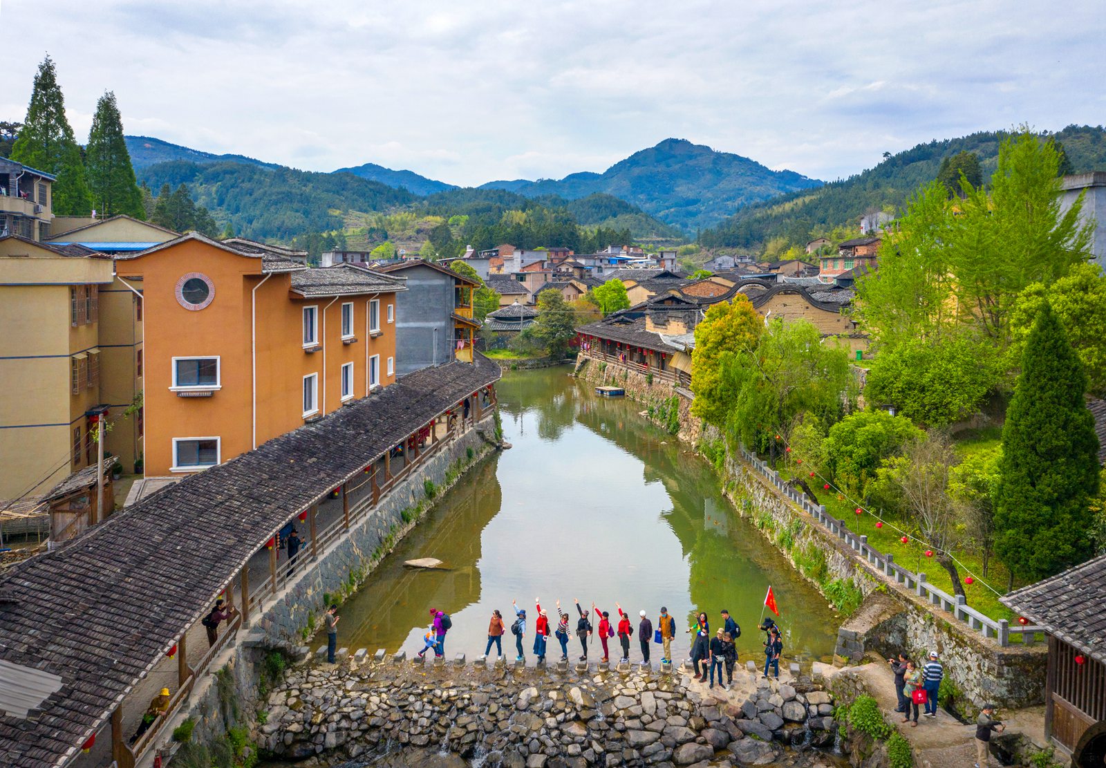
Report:
M146 218L142 193L131 165L131 153L123 138L123 118L115 94L111 91L96 102L84 165L97 211L104 216L126 214L136 219Z

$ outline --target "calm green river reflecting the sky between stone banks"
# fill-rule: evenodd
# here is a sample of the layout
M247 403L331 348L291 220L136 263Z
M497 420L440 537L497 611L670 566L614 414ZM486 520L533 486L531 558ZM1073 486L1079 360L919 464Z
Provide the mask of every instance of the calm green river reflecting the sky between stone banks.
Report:
M513 446L470 470L340 610L338 644L408 655L422 647L429 609L450 614L446 654L483 653L493 609L510 626L511 601L526 610L525 651L533 663L534 599L551 621L555 602L594 601L634 626L661 605L676 616L672 656L688 656L697 610L712 627L729 609L742 627L741 660L762 660L757 624L771 584L780 609L785 661L828 661L838 619L722 496L711 467L676 437L638 415L629 399L597 397L568 367L504 373L499 399ZM405 560L432 557L448 570L417 571ZM593 623L594 617L593 617ZM611 655L617 637L611 641ZM503 637L513 658L513 637ZM550 637L550 661L560 646ZM653 661L660 646L653 645ZM570 658L580 652L575 637ZM494 651L492 652L494 654ZM589 658L602 656L597 639ZM636 637L630 657L640 658Z

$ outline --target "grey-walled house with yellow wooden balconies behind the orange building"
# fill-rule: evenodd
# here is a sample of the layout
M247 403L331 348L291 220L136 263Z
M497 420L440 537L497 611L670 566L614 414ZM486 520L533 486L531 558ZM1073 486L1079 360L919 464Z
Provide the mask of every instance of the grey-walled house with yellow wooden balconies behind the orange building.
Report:
M421 259L378 269L407 281L396 297L396 375L452 360L471 363L480 326L472 319L472 291L480 283Z

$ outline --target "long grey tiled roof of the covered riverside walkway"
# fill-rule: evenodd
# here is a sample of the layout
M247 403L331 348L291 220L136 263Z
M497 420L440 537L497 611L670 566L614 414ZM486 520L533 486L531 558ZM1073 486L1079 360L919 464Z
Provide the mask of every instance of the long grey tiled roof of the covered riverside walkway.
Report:
M0 766L48 768L76 755L286 520L499 378L498 365L476 357L404 376L0 574L0 660L63 681L29 719L0 716Z

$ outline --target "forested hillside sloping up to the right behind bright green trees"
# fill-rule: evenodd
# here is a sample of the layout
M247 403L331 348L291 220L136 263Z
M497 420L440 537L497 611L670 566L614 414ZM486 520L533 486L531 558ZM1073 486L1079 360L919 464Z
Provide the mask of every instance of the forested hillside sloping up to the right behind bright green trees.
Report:
M752 204L718 227L702 231L699 241L709 248L759 251L775 238L799 246L837 226L856 227L859 218L869 211L901 208L919 185L937 177L945 157L959 152L975 153L983 178L990 178L998 162L999 144L1006 135L1004 132L980 132L919 144L847 179ZM1071 164L1070 173L1106 170L1106 131L1102 126L1070 125L1046 135L1063 145Z

